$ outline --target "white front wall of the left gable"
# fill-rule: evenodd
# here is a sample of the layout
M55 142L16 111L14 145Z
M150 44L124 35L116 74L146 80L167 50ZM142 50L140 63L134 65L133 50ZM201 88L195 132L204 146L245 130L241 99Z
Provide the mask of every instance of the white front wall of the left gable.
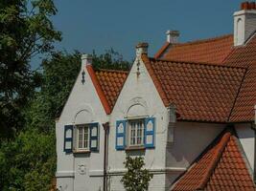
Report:
M93 191L103 189L104 129L108 121L104 107L85 70L85 82L81 72L56 124L57 135L57 184L64 191ZM64 125L99 122L99 152L90 154L66 154L63 152ZM80 168L85 167L85 172ZM60 189L60 190L61 190Z

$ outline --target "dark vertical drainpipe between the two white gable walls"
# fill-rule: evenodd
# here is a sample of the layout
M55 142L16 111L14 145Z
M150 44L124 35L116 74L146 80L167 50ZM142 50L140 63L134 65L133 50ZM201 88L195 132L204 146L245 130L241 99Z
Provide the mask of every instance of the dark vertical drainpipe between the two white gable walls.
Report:
M103 124L105 130L105 140L104 140L104 191L107 191L107 148L108 148L108 133L109 133L109 122Z

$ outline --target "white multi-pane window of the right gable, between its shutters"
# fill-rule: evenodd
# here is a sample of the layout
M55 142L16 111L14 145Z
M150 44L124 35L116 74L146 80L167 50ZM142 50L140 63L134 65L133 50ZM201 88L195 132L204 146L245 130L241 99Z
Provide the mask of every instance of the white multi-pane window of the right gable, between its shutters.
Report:
M144 131L145 118L128 119L128 147L144 146Z

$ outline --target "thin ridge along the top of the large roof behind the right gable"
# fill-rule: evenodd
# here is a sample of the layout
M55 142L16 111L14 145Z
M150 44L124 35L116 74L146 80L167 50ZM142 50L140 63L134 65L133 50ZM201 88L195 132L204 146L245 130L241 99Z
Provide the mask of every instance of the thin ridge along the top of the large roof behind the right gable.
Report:
M174 62L174 63L180 63L180 64L194 64L194 65L205 65L205 66L217 66L220 68L247 69L246 67L221 65L221 64L215 64L215 63L209 63L209 62L180 61L180 60L172 60L172 59L167 59L167 58L162 59L162 58L154 58L154 57L149 57L149 58L153 59L155 61Z

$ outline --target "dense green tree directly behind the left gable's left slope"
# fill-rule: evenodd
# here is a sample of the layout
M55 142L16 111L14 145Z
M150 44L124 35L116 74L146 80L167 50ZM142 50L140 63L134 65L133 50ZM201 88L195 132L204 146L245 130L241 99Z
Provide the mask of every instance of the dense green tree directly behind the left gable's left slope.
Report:
M52 53L42 61L42 85L26 112L27 128L55 132L55 118L71 92L81 69L81 53Z

